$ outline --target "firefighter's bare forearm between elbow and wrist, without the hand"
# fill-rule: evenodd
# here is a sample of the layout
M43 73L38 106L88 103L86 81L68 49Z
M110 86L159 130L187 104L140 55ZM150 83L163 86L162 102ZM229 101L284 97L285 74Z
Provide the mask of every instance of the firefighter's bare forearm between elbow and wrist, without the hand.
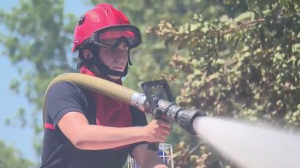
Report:
M83 131L84 130L84 131ZM104 127L87 125L78 132L74 145L79 149L111 149L144 140L142 127Z

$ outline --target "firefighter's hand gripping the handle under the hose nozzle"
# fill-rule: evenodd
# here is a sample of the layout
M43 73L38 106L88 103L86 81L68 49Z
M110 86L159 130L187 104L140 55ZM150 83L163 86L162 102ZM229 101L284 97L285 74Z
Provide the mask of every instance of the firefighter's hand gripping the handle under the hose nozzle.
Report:
M167 120L154 119L144 126L145 139L148 142L165 142L171 131L171 124Z

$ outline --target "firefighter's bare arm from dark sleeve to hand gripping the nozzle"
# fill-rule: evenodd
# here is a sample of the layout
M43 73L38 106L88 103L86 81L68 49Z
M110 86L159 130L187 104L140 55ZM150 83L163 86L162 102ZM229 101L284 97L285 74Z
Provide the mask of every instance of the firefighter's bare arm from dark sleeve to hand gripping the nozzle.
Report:
M144 127L90 125L82 113L69 112L58 122L60 130L78 149L111 149L140 141L163 142L170 125L157 120Z

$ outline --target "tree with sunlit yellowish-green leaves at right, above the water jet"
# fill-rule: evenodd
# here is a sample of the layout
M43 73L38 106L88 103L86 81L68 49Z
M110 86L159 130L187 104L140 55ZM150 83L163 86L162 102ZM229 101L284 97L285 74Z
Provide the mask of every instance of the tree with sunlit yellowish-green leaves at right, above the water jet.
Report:
M246 10L233 12L236 6ZM185 81L178 103L299 129L299 7L298 1L224 1L226 12L215 19L198 13L180 26L161 21L151 32L181 50L170 62L170 76ZM201 153L199 167L210 167L212 158Z

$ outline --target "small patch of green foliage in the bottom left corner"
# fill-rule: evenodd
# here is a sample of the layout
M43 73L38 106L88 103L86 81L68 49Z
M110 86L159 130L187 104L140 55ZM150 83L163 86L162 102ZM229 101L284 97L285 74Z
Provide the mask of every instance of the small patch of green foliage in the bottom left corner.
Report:
M0 168L34 167L33 162L24 159L19 151L8 147L0 140Z

